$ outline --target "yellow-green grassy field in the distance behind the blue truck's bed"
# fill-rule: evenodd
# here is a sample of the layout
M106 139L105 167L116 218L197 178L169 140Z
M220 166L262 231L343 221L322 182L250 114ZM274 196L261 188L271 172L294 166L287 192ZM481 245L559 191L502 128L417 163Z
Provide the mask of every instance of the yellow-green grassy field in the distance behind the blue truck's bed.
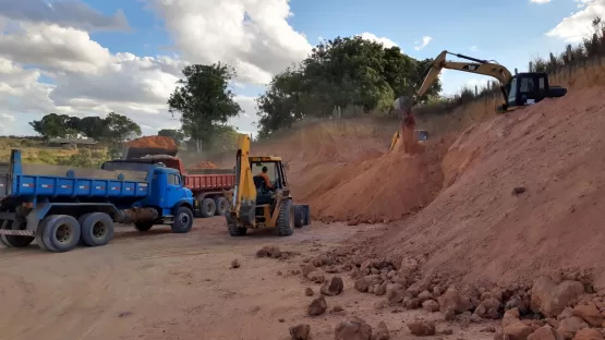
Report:
M45 146L41 141L0 137L0 161L8 161L11 149L19 148L27 163L98 167L108 159L107 149L68 149Z

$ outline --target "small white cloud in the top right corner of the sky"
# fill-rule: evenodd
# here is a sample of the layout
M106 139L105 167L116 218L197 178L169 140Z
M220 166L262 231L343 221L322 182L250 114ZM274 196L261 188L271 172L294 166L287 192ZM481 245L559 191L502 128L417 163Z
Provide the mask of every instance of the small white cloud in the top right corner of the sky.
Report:
M592 21L595 16L605 17L605 0L576 0L579 11L569 16L546 33L547 36L578 42L583 37L592 35Z

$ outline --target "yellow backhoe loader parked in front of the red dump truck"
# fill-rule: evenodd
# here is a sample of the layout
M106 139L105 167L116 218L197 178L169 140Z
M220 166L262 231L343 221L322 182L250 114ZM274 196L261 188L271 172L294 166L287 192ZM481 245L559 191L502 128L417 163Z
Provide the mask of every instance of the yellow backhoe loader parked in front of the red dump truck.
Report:
M308 226L308 205L294 204L281 157L250 156L250 136L240 134L235 185L225 193L230 202L226 214L229 234L243 236L250 228L271 227L278 235L289 236L293 228Z

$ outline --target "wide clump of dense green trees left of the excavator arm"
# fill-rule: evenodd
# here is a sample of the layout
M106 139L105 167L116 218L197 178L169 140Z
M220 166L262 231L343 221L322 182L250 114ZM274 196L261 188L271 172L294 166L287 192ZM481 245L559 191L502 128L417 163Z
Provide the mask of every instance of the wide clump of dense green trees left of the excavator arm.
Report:
M329 117L336 107L390 110L395 98L412 92L431 62L358 36L322 42L300 65L275 75L256 100L258 136L290 127L305 116ZM437 81L426 97L439 90Z

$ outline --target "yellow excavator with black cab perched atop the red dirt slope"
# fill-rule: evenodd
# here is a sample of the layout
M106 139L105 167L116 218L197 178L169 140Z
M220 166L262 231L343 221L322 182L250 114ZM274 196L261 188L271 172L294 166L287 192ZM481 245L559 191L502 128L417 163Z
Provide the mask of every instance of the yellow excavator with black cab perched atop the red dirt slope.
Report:
M448 61L446 60L448 54L468 61ZM544 72L525 72L512 75L508 69L494 60L482 60L443 51L424 72L421 77L422 84L415 95L411 98L407 96L399 97L395 101L395 109L401 110L406 114L411 114L412 107L426 94L443 69L483 74L498 80L505 99L504 104L496 108L496 111L499 113L517 110L539 102L544 98L557 98L567 94L567 88L548 84L548 74ZM391 138L390 150L394 149L399 136L400 133L397 131Z

